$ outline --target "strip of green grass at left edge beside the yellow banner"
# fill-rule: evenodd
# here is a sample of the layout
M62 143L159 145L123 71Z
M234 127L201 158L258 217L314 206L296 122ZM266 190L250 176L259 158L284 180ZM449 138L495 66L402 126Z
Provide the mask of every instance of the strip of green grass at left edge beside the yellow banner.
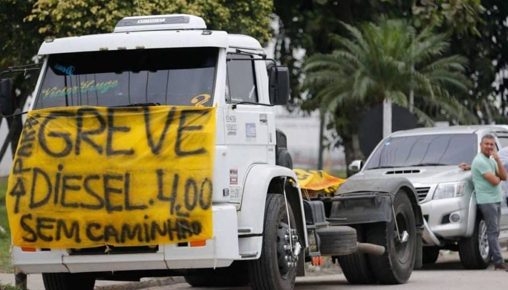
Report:
M7 219L7 209L5 208L5 195L7 191L7 177L0 177L0 226L5 232L0 231L0 272L14 273L14 267L11 264L11 231ZM0 289L18 289L10 285L0 284Z

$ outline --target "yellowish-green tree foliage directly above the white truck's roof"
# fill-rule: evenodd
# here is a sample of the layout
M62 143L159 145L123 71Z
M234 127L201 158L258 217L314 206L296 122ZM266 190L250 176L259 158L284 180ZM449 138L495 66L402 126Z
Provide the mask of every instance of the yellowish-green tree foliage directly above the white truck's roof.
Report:
M270 38L270 0L38 0L27 21L44 23L39 33L62 37L108 33L125 16L184 13L203 17L209 29Z

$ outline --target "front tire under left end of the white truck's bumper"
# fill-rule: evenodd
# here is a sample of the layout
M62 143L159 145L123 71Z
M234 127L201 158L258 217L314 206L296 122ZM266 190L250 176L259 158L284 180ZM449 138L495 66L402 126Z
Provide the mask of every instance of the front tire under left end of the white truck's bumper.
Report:
M96 278L89 273L42 273L46 290L93 290Z

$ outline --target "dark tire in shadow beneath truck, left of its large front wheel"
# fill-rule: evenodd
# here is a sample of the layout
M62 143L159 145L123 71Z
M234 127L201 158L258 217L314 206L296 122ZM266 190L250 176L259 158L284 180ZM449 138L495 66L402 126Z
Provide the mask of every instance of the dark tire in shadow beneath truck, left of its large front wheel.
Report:
M227 268L202 269L193 275L184 276L185 282L193 287L240 287L249 284L245 263L235 261Z

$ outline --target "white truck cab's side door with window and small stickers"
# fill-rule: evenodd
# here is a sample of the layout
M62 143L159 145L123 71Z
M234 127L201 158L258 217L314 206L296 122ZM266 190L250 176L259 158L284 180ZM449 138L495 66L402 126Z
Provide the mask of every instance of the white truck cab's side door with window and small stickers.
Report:
M230 202L241 202L243 183L252 164L267 163L268 118L252 56L229 53L224 107L225 145L229 154ZM243 60L246 59L246 60ZM237 104L249 102L250 104Z

